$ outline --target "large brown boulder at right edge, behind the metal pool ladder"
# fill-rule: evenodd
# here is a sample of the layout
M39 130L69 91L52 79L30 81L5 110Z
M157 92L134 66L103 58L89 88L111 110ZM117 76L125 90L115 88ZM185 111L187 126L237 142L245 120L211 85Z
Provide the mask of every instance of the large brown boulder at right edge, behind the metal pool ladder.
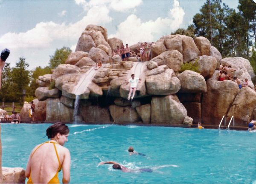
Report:
M249 87L241 88L227 113L228 119L234 116L235 126L247 126L248 122L253 120L255 108L256 92Z

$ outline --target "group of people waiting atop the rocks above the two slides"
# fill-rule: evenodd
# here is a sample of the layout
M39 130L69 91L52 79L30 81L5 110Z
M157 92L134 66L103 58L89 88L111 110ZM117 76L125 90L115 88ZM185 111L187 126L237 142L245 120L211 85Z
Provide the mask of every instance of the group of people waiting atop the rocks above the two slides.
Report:
M126 43L125 46L122 46L122 48L117 46L112 52L112 57L119 55L122 58L122 61L128 61L129 57L137 57L138 61L142 62L149 61L151 58L150 48L151 46L147 42L144 42L144 44L141 43L140 48L137 49L138 52L136 53L132 51Z

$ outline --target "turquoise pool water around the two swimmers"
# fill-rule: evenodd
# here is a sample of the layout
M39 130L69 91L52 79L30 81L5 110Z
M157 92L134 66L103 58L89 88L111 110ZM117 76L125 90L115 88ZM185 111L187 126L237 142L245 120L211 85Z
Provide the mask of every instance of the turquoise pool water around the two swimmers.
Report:
M26 168L50 124L2 124L3 166ZM256 133L173 127L68 125L70 183L252 183ZM128 147L146 154L129 156ZM100 161L116 161L152 173L123 173ZM177 167L176 167L177 166ZM59 175L61 181L61 174Z

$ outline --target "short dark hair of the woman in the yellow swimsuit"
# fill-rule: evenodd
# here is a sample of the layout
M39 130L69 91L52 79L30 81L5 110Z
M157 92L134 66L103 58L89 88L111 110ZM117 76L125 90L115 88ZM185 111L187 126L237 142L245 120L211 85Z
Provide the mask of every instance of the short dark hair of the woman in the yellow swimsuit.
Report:
M48 139L53 138L57 135L57 133L60 133L61 135L67 135L69 133L68 126L64 123L58 122L49 126L46 130L46 135Z

